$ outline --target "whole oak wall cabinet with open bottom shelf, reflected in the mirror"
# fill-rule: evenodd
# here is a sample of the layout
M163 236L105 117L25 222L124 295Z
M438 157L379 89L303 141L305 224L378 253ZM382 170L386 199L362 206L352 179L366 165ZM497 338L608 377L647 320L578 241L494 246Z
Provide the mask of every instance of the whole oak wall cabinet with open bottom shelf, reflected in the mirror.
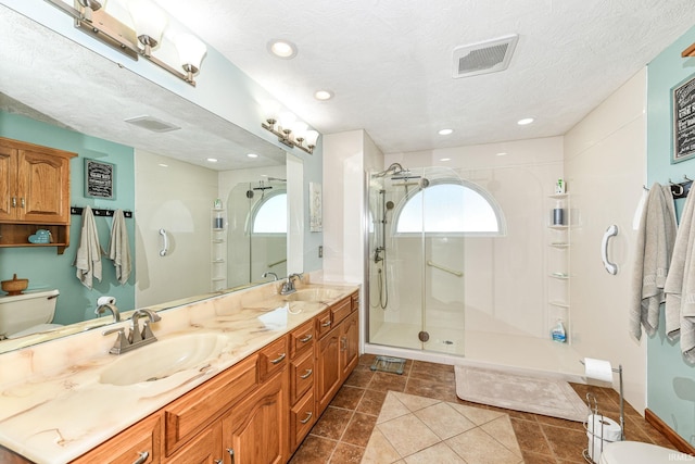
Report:
M0 247L70 244L70 160L77 153L0 137ZM30 243L37 229L53 242Z

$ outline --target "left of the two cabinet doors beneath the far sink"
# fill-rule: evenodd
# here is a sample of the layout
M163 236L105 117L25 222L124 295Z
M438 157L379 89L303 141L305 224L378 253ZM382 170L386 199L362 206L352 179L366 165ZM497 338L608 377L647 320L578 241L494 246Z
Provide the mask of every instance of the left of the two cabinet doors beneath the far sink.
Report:
M340 388L340 326L316 343L316 414L320 415Z

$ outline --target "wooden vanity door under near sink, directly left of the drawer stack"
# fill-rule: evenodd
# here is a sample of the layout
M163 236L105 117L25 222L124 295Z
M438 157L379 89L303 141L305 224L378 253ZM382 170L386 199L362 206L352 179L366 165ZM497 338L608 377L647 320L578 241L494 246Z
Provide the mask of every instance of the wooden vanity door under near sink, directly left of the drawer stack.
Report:
M226 464L280 464L289 457L287 369L223 417Z

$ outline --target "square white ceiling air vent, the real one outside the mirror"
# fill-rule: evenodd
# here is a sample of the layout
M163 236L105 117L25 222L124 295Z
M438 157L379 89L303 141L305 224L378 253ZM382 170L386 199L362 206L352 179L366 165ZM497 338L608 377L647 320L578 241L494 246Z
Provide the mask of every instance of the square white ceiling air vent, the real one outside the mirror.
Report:
M460 46L454 49L454 77L469 77L478 74L496 73L509 66L511 53L519 36Z

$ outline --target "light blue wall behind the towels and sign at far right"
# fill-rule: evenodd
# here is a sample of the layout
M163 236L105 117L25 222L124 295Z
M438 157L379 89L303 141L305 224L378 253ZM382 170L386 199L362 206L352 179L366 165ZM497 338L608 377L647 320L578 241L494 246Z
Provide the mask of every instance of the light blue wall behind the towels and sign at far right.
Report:
M681 52L695 42L695 27L661 52L647 66L647 178L680 181L695 178L695 159L671 164L671 89L695 77L695 58ZM677 201L682 209L684 200ZM680 215L680 214L679 214ZM691 444L695 444L695 366L688 365L679 341L666 338L664 314L658 334L647 343L647 407Z

